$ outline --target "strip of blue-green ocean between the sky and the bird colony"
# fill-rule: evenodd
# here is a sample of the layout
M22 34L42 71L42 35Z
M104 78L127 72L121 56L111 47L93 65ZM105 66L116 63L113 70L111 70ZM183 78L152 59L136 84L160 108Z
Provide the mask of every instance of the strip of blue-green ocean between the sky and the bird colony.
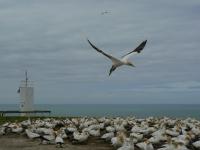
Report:
M0 104L0 110L19 110L15 104ZM196 104L37 104L35 110L50 110L51 116L126 117L145 118L192 117L200 119L200 105Z

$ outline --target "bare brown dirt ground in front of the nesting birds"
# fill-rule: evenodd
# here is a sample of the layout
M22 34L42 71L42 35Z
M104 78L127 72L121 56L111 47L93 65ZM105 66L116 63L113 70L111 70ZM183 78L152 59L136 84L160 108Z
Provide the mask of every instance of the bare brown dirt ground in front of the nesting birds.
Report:
M84 145L72 145L65 141L63 148L56 145L42 145L39 140L31 140L21 135L6 135L0 137L0 150L114 150L111 144L100 139L90 139Z

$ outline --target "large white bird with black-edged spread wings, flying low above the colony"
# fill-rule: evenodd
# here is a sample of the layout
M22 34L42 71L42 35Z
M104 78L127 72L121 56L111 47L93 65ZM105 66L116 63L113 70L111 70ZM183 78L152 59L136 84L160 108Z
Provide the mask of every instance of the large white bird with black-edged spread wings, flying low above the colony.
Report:
M133 65L133 63L131 63L128 60L128 58L134 53L140 53L147 43L147 40L143 41L137 48L135 48L131 52L127 53L126 55L122 56L121 59L118 59L118 58L115 58L115 57L103 52L101 49L99 49L95 45L93 45L88 39L87 39L87 41L97 52L103 54L104 56L108 57L112 61L112 67L110 69L109 76L117 67L120 67L122 65L128 65L131 67L135 67L135 65Z

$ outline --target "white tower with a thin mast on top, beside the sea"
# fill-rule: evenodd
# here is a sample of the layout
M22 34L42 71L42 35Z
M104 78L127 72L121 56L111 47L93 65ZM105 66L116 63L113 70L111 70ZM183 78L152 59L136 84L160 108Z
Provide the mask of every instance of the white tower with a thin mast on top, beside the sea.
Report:
M33 111L33 83L28 80L27 71L26 79L21 81L18 93L20 94L20 110ZM27 116L28 113L21 113L21 116Z

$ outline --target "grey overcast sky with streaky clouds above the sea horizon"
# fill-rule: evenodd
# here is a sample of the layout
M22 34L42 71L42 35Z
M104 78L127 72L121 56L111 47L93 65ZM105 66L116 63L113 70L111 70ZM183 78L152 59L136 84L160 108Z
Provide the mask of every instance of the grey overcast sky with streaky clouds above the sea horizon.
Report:
M118 57L148 43L109 77L86 37ZM199 0L0 0L0 103L28 69L37 104L200 104L199 47Z

